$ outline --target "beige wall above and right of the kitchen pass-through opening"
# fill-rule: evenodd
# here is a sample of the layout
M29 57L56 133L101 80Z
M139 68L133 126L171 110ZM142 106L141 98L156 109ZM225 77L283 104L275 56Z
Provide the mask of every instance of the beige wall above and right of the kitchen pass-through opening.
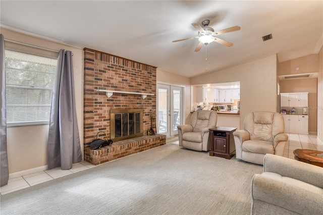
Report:
M240 128L249 112L277 109L277 58L263 57L231 68L191 78L191 84L240 81Z

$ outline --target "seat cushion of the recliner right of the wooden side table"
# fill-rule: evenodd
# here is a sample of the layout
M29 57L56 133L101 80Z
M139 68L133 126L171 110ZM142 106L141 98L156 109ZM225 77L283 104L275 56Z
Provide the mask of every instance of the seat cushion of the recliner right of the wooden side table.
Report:
M262 140L246 140L242 144L242 150L259 154L275 153L273 143Z

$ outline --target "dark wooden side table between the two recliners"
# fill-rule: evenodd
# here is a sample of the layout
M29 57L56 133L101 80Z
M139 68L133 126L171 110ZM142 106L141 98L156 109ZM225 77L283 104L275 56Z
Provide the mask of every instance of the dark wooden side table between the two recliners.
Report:
M235 155L236 146L232 134L235 130L237 128L221 126L209 129L211 136L210 156L231 159Z

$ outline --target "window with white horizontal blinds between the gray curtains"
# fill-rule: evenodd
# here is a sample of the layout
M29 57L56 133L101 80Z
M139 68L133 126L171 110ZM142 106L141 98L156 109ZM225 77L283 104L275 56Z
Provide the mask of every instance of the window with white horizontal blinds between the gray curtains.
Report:
M5 50L7 125L49 123L57 59Z

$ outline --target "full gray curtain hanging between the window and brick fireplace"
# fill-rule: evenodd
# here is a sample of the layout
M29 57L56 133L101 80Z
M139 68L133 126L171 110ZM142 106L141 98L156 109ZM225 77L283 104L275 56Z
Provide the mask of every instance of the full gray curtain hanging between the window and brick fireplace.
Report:
M74 94L72 52L61 49L51 98L48 170L69 170L82 160Z

